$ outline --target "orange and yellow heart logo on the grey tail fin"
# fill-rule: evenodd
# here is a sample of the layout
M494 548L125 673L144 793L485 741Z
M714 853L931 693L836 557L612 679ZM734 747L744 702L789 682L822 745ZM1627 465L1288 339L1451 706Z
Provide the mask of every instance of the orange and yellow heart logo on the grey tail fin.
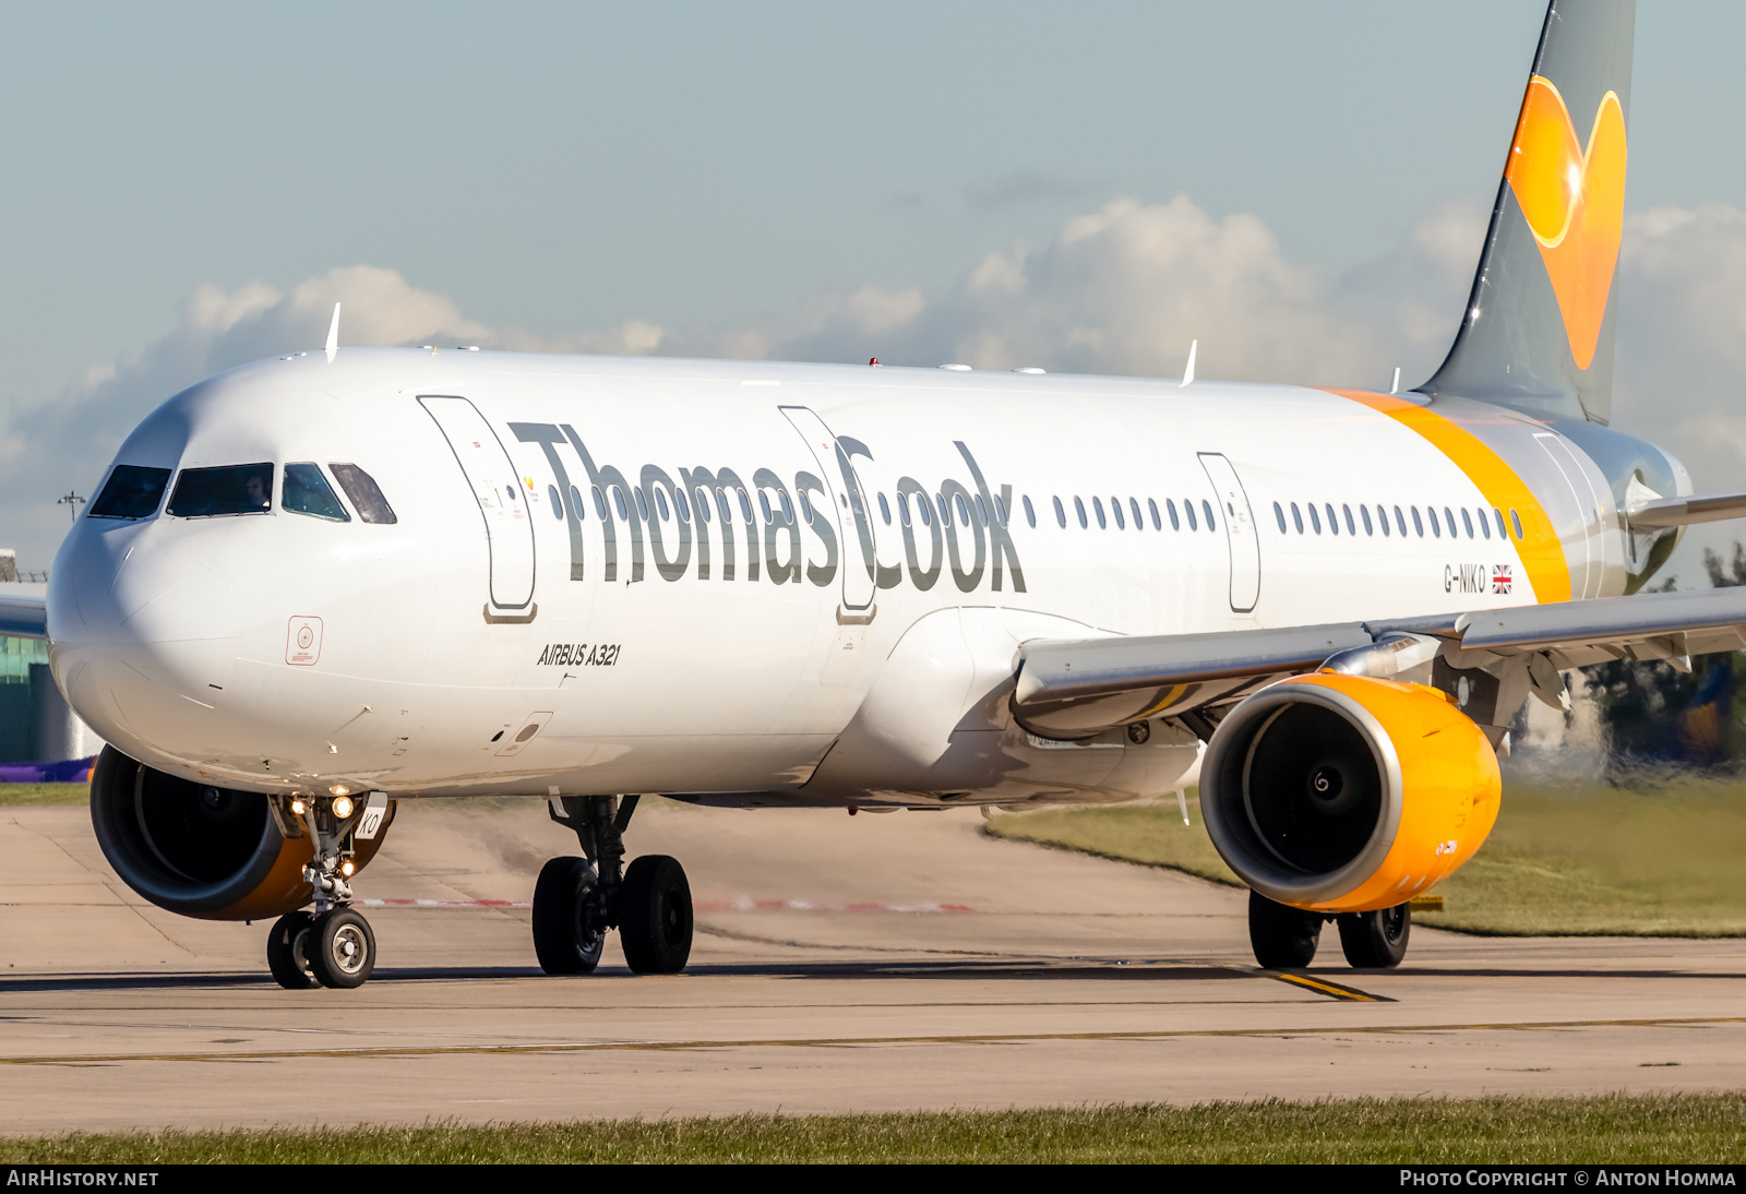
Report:
M1584 150L1564 96L1549 79L1529 79L1505 178L1540 243L1570 354L1577 368L1587 368L1626 225L1626 113L1619 96L1608 91L1601 98Z

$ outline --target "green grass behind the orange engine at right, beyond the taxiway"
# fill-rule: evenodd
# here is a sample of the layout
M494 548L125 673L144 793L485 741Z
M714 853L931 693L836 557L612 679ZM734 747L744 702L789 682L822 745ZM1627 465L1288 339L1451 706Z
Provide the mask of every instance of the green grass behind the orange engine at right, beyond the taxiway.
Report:
M997 817L988 833L1238 880L1213 852L1200 803ZM1746 784L1641 789L1509 784L1491 838L1437 892L1425 925L1507 936L1746 936Z

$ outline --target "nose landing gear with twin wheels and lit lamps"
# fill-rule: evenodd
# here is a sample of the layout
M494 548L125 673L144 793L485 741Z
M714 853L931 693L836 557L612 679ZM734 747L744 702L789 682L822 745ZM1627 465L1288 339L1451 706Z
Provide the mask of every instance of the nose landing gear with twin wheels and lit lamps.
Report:
M351 908L353 836L375 836L386 798L377 805L333 798L297 799L290 813L316 843L304 868L304 882L316 897L316 909L279 916L267 934L267 969L292 992L311 986L363 986L375 971L375 934L370 922ZM375 813L374 819L370 813Z

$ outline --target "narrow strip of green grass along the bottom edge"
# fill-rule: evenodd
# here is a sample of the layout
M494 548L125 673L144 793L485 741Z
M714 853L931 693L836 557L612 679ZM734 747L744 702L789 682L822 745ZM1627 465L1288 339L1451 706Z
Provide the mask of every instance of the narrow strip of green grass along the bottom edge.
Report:
M1077 1107L0 1140L3 1164L1741 1163L1746 1094Z

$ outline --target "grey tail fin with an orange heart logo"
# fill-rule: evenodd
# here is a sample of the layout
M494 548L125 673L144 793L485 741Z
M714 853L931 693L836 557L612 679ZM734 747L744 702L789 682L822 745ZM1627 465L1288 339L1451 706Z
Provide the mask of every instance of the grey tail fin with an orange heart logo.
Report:
M1547 7L1474 290L1419 393L1608 421L1634 26L1636 0Z

